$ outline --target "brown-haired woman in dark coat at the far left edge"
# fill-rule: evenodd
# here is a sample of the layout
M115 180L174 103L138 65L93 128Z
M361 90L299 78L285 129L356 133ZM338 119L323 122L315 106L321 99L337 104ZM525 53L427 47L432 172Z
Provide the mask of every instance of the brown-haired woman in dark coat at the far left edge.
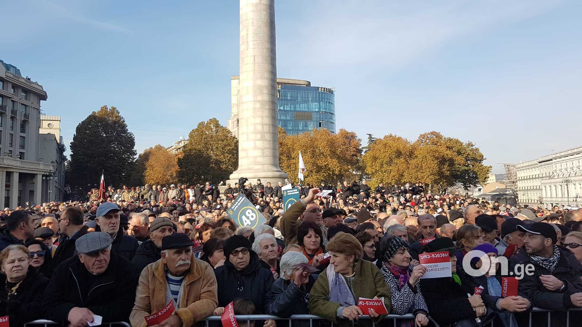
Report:
M0 317L10 327L42 318L42 296L48 278L30 268L30 251L13 244L0 252Z

